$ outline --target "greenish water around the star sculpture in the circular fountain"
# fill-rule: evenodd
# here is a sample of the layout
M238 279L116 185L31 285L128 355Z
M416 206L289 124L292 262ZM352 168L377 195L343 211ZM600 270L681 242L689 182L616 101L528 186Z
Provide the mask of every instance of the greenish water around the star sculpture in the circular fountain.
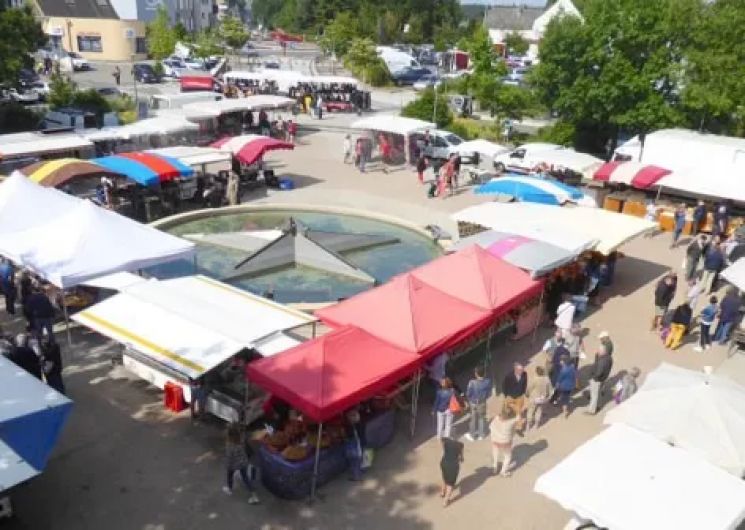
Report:
M187 221L173 225L166 231L186 235L269 230L283 226L289 217L315 230L397 237L399 243L343 254L349 262L373 276L379 283L441 254L439 247L430 239L407 228L364 217L329 213L289 210L231 213ZM247 255L246 252L198 244L197 269L200 274L220 279L228 275ZM181 264L179 271L173 266L158 267L153 269L153 273L158 277L180 275L184 274L184 266L185 264ZM257 294L272 290L275 300L283 303L338 300L370 288L369 284L345 276L303 266L276 270L231 283Z

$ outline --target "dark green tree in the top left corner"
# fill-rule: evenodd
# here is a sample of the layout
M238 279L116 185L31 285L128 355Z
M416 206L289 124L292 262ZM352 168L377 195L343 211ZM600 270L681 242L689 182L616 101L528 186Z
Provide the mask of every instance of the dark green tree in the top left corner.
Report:
M0 83L15 84L21 68L31 66L29 55L47 41L31 8L9 9L0 3Z

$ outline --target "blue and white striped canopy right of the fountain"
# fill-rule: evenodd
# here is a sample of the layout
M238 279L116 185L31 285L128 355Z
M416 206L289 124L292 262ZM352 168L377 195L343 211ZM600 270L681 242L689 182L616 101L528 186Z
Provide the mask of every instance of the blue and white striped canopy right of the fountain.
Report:
M523 175L505 175L491 179L474 190L481 195L510 195L523 202L562 205L565 202L587 203L590 197L577 188L557 180Z

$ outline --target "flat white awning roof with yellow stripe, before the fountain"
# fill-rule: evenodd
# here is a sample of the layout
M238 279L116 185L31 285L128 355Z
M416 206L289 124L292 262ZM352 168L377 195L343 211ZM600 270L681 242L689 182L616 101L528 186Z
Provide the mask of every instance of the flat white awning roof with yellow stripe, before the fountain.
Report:
M72 318L191 378L243 348L291 347L297 341L277 332L314 320L204 276L134 284Z

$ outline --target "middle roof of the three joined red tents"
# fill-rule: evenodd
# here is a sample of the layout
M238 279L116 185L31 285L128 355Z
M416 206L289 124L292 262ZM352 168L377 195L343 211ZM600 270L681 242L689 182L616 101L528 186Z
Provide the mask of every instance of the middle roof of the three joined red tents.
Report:
M331 326L359 326L424 356L457 344L487 324L491 315L411 274L316 311Z

